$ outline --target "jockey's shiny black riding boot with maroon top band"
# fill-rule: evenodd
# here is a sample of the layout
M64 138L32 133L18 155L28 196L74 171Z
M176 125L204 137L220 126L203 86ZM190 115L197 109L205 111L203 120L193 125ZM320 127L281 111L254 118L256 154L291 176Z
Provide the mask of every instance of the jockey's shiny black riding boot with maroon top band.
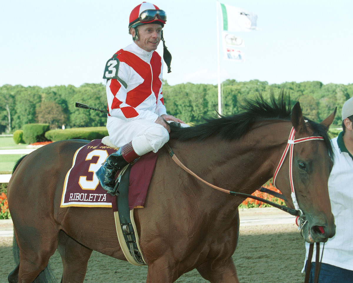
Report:
M115 186L115 175L121 168L134 161L139 155L132 148L132 143L121 146L117 151L110 154L101 168L96 172L99 182L108 194L112 194Z

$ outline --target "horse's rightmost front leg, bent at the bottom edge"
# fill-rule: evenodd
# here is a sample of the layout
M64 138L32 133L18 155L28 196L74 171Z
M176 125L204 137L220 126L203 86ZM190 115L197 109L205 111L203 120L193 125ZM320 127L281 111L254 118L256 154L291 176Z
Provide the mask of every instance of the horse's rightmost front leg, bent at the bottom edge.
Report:
M226 261L208 261L196 268L201 276L211 283L239 283L232 258Z

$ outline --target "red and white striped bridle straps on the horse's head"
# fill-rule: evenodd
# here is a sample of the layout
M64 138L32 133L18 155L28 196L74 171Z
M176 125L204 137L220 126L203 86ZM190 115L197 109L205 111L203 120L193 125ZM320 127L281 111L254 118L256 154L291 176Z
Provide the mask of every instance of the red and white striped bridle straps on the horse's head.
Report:
M294 139L294 134L295 134L295 129L294 127L291 130L291 133L289 134L289 138L288 138L288 143L286 146L285 151L282 154L280 163L277 166L277 169L275 171L275 174L273 175L273 185L275 185L275 181L276 181L276 177L278 172L281 169L281 166L286 158L286 155L288 153L288 149L289 149L289 183L291 184L291 197L292 197L292 201L294 204L294 208L296 210L299 210L301 214L303 214L303 212L300 210L299 205L298 205L298 201L297 201L297 197L295 196L295 190L294 190L294 184L293 184L293 174L292 174L292 169L293 169L293 148L294 148L294 144L297 143L301 143L303 141L307 141L307 140L323 140L323 137L320 136L312 136L312 137L306 137L306 138L301 138L301 139Z

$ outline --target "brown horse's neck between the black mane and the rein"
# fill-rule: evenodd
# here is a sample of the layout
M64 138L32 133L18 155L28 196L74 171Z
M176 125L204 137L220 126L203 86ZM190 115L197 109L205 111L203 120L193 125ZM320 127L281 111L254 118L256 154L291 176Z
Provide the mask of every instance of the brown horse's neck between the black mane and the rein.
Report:
M185 166L209 183L251 194L273 176L289 129L288 122L263 123L238 140L209 138L172 146Z

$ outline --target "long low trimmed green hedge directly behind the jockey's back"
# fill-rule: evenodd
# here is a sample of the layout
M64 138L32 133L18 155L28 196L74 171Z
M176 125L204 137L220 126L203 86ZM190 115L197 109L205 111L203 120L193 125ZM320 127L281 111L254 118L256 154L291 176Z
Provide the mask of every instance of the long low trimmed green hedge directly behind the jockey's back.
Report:
M108 135L106 127L88 127L88 128L71 128L71 129L54 129L45 133L45 137L51 141L68 140L68 139L102 139Z

